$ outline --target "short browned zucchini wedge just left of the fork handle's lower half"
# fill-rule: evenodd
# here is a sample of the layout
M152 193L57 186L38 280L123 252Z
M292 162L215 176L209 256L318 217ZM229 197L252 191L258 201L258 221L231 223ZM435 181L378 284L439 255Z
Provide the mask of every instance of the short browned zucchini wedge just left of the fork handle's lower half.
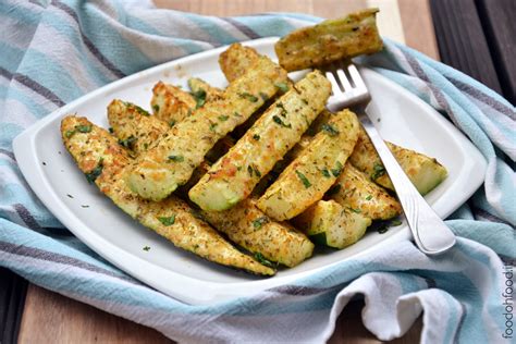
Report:
M372 220L388 220L402 213L400 202L382 187L368 180L349 161L336 180L330 197L352 211Z

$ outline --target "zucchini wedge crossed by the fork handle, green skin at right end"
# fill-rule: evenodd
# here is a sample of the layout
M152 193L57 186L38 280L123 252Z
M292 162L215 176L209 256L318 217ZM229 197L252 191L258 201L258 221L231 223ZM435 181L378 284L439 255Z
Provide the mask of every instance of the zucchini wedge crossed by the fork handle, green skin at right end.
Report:
M385 142L385 144L421 195L425 196L446 179L446 169L434 158L388 142ZM374 146L363 127L360 128L358 143L353 155L349 157L349 161L358 170L366 173L371 181L394 191L391 179L386 174Z

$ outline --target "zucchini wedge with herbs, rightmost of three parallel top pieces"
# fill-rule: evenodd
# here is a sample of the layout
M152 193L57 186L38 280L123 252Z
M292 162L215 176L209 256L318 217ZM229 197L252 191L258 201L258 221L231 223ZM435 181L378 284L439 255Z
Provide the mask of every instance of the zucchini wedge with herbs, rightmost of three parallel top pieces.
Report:
M260 197L258 208L269 217L284 221L321 199L353 152L359 125L349 110L332 116Z

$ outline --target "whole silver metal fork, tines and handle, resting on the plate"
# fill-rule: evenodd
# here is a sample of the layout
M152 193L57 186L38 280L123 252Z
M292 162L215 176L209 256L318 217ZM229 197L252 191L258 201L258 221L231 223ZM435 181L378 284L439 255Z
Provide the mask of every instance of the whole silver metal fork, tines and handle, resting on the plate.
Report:
M455 235L413 185L371 122L371 96L357 67L348 64L347 73L351 78L339 65L327 69L325 75L333 91L327 108L335 112L354 106L394 185L416 245L427 255L444 253L455 245Z

